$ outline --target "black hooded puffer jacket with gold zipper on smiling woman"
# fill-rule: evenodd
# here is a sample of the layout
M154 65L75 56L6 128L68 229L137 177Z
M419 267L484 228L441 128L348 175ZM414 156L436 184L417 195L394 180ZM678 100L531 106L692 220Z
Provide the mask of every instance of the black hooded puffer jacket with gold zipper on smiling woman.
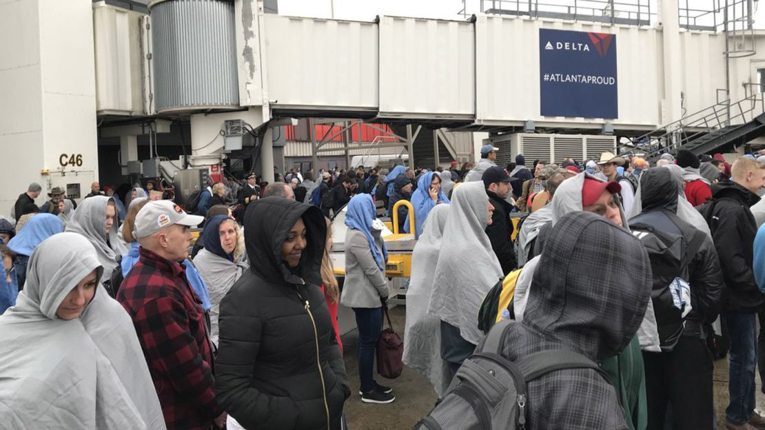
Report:
M301 219L308 245L289 269L282 244ZM220 305L218 402L249 430L340 428L350 385L317 285L327 227L321 211L268 197L249 205L245 244L250 270Z

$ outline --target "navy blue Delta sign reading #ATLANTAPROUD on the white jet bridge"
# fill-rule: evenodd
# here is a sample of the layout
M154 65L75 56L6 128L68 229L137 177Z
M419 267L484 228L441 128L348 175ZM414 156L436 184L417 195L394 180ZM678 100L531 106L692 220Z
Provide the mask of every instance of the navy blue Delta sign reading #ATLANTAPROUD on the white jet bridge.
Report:
M615 34L539 29L542 116L619 117Z

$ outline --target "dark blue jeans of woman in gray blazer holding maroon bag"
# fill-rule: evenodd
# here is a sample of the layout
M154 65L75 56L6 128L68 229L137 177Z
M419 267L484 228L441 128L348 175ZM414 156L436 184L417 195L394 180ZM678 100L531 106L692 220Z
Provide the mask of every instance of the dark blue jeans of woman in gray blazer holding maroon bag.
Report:
M382 331L382 308L353 308L353 313L356 314L356 327L359 327L356 357L359 360L361 392L369 393L376 386L373 371L377 339Z

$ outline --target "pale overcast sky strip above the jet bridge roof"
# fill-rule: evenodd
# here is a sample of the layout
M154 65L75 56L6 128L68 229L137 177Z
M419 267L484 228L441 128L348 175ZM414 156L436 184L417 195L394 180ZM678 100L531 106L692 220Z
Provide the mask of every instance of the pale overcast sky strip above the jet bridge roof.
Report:
M649 0L640 0L645 5ZM681 6L708 9L713 0L679 0ZM638 0L620 0L622 3L636 4ZM650 10L656 13L657 0L650 0ZM462 0L278 0L279 14L330 18L334 3L334 18L354 21L371 21L376 15L410 16L417 18L462 19L458 12L462 10ZM465 0L468 15L480 12L480 0ZM499 0L496 1L500 3ZM574 0L545 0L545 4L573 5ZM578 4L587 5L587 0ZM489 8L490 0L484 2ZM515 4L515 2L513 2ZM591 2L591 5L604 4L603 1ZM757 4L755 2L755 4ZM693 14L692 14L693 15ZM755 28L765 28L765 7L755 13Z

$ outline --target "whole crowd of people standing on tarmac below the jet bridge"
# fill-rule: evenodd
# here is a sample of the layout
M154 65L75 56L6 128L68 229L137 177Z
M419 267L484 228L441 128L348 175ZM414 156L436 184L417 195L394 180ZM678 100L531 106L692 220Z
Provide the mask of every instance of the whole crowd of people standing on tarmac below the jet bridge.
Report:
M496 165L497 151L434 171L246 174L185 208L154 182L95 182L79 202L54 187L37 207L30 184L0 219L0 428L340 429L352 385L362 402L394 402L374 377L392 294L380 213L417 239L403 361L439 398L475 377L467 361L509 321L496 360L594 363L529 380L511 417L526 428L717 428L725 354L726 428L765 428L765 156L526 167ZM358 381L338 305L355 315Z

